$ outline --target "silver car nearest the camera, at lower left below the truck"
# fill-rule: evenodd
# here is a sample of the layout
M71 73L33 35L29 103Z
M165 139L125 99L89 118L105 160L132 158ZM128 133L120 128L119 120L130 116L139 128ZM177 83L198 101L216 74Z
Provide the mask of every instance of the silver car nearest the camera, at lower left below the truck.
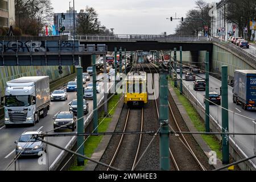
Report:
M42 155L42 151L46 151L46 143L33 138L33 135L39 134L42 134L42 131L25 131L20 136L19 140L15 141L17 144L15 149L16 155Z

